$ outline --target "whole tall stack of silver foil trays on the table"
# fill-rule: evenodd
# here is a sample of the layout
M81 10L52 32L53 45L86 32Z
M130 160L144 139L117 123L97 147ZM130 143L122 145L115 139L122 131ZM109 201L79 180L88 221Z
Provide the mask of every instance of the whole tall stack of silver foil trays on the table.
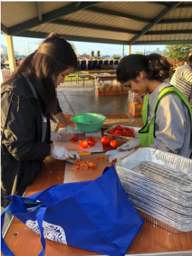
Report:
M192 230L191 159L143 148L120 159L116 169L143 218L161 223L172 233Z

